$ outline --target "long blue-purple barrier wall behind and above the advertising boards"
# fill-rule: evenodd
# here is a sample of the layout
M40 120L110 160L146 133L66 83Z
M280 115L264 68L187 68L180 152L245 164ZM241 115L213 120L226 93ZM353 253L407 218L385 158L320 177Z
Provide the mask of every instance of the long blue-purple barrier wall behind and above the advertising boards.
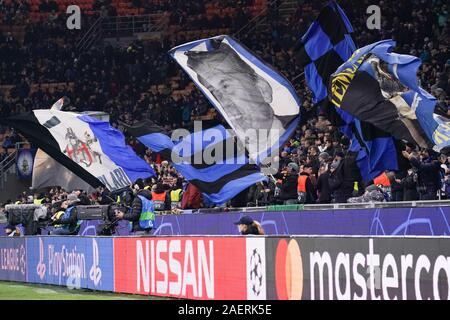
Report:
M237 235L233 224L248 214L268 235L450 235L450 207L368 208L158 215L155 235ZM101 221L85 221L80 235L95 236ZM4 235L0 224L0 236ZM117 235L129 235L122 221Z

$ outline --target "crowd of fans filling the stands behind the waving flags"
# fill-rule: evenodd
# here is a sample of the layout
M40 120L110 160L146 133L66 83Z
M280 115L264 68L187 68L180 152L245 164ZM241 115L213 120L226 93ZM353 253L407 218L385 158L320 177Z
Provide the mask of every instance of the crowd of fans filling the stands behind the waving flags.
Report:
M276 6L271 6L267 14L268 31L254 29L239 34L240 41L291 80L303 101L303 112L301 126L281 150L280 170L274 179L258 184L250 191L245 190L233 199L232 204L450 198L447 157L416 150L413 146L408 146L399 155L411 169L387 172L375 181L380 188L367 188L361 182L354 156L347 151L348 139L342 137L324 118L322 111L313 105L311 93L301 76L302 68L296 63L293 52L299 37L325 2L302 1L295 14L286 20L281 18ZM393 38L397 41L396 52L420 57L423 62L419 73L421 86L438 98L436 112L450 114L447 110L450 105L450 60L446 2L434 0L430 5L429 1L420 0L383 1L380 3L381 30L368 30L366 8L371 4L369 2L340 1L355 28L357 45ZM227 17L205 19L203 2L151 3L133 1L133 5L144 7L147 12L176 7L171 23L183 26L184 30L231 27L230 23L235 23L235 19ZM242 3L247 6L251 1ZM235 31L248 20L246 10L237 10L236 14L238 16L234 18L238 23L232 26ZM79 35L64 30L64 17L60 15L52 21L28 25L24 43L20 45L10 34L0 34L0 85L13 85L9 95L0 96L0 116L48 107L59 97L68 96L73 110L105 111L111 115L115 126L119 121L133 124L137 119L148 117L160 125L178 128L189 126L193 117L204 115L211 108L197 90L190 90L179 99L172 95L171 81L177 83L177 88L188 87L190 81L176 63L170 61L167 51L194 39L174 34L158 42L135 41L128 47L106 45L77 55L74 46ZM40 84L52 82L65 85L54 92L41 88ZM33 84L38 87L31 92ZM149 90L161 85L157 90ZM157 179L143 182L144 186L158 186L170 192L182 183L186 188L182 177L170 164L161 161L159 155L134 139L129 139L129 143L158 172ZM307 178L299 178L301 176ZM194 191L192 193L197 192ZM103 192L94 193L91 201L98 201L98 194ZM64 193L58 194L61 195ZM200 203L197 201L191 207L201 206Z

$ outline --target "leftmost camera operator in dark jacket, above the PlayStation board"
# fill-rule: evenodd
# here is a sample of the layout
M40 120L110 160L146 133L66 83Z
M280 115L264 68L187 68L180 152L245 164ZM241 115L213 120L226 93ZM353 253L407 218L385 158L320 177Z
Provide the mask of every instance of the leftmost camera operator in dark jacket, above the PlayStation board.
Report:
M54 215L52 217L53 225L60 225L56 229L54 229L50 234L51 235L77 235L78 231L80 231L81 221L78 221L77 218L77 207L80 200L78 199L75 193L71 193L67 196L67 200L65 200L61 204L61 209L64 210L64 214L62 214L59 218Z

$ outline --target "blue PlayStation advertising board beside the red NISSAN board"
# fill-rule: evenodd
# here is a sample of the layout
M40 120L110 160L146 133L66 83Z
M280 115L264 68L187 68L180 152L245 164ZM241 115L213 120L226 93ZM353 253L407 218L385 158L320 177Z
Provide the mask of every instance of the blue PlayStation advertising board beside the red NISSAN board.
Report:
M27 237L28 282L114 291L113 240Z

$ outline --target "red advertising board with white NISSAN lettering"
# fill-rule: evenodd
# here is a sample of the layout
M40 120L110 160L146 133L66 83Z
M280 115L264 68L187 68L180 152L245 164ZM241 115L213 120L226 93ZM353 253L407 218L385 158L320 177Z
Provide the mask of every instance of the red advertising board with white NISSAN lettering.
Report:
M244 238L116 238L115 291L246 299L246 255Z

